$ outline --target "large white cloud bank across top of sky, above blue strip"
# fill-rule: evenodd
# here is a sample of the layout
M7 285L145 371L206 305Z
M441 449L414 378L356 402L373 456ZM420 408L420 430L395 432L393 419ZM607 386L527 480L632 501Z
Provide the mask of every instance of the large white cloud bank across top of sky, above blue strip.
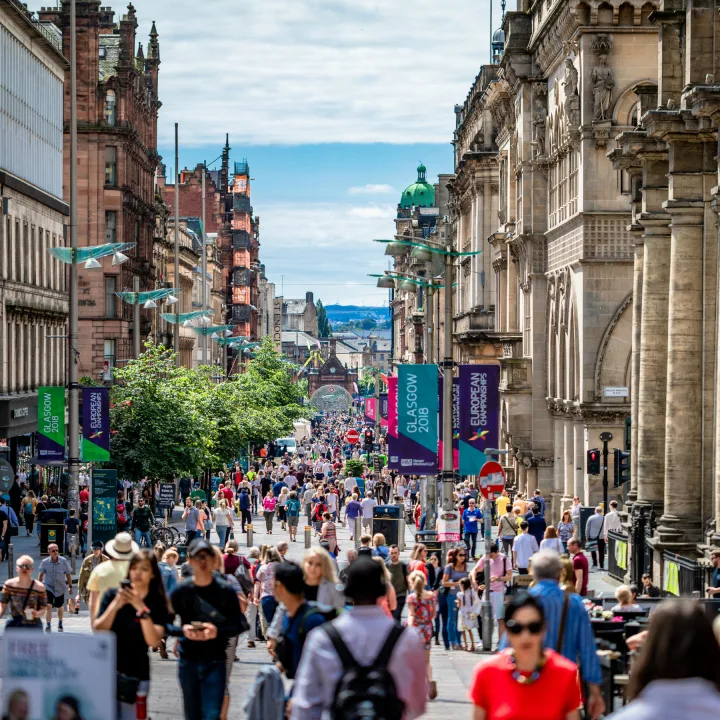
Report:
M30 0L33 9L48 3ZM499 20L499 0L495 24ZM126 3L113 5L116 19ZM160 39L160 145L449 143L487 62L476 0L137 0Z

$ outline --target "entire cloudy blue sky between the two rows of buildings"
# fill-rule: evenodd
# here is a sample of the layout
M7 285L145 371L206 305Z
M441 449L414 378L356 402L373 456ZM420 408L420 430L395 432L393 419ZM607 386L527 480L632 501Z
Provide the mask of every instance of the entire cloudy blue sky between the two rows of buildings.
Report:
M181 165L214 159L228 132L278 293L284 275L288 297L386 301L366 276L387 267L372 238L392 234L419 160L431 180L452 172L453 106L488 61L490 1L134 0L143 44L153 20L160 34L168 170L176 121Z

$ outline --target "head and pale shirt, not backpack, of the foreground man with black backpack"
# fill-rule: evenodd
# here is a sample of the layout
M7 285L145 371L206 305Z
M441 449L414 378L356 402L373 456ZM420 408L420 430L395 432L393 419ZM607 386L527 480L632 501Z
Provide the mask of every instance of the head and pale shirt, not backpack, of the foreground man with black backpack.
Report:
M328 631L336 633L336 642L339 639L361 666L373 665L390 633L398 632L393 630L393 619L377 604L386 590L383 568L372 558L359 557L348 567L344 593L354 607L308 633L295 676L291 720L322 720L333 709L343 663ZM399 632L387 667L397 697L405 704L404 720L414 720L425 712L428 697L426 653L415 628L405 627ZM430 697L436 695L433 682Z

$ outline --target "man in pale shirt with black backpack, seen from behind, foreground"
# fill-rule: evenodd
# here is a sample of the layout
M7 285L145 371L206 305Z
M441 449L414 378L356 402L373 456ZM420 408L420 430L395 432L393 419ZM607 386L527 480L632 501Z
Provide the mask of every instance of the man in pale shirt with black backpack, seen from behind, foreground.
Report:
M293 689L291 720L413 720L428 695L424 645L377 605L387 590L383 568L361 556L347 572L354 607L313 630Z

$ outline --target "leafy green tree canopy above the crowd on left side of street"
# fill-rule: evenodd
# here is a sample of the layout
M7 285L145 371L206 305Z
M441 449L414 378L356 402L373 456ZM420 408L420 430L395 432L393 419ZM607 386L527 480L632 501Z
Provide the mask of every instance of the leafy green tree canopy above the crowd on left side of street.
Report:
M301 393L265 338L244 372L216 382L211 366L175 367L152 343L115 372L111 464L121 477L172 479L222 467L248 443L292 433Z

